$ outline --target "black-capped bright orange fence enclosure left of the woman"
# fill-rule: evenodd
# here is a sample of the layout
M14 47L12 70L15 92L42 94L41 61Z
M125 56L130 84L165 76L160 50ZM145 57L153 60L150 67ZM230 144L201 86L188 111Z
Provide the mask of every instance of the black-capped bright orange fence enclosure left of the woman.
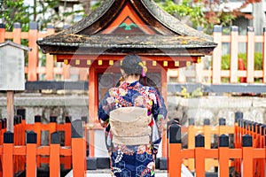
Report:
M23 117L23 116L22 116ZM12 177L26 171L35 177L41 164L49 164L50 176L59 176L61 170L73 169L74 176L84 176L86 165L86 134L82 120L58 124L51 116L50 123L41 123L35 116L35 124L26 124L21 116L14 118L14 133L6 132L6 119L0 119L0 176ZM49 132L49 144L42 145L43 131ZM64 144L59 132L64 132ZM63 169L62 169L63 165Z

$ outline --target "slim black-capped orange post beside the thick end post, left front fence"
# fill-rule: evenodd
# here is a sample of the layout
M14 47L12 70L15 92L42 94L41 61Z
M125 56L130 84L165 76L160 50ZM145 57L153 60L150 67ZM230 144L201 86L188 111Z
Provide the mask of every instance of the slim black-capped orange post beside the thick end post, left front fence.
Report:
M49 165L50 176L60 176L60 136L58 132L51 134Z

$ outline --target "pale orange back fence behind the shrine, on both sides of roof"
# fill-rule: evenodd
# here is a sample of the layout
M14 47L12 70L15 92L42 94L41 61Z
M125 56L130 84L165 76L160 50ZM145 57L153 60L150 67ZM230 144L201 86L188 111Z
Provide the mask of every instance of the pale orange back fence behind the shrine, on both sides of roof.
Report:
M72 75L76 75L77 80L87 80L87 69L70 69L69 65L56 64L53 56L47 54L45 56L44 65L41 62L40 56L42 52L38 50L36 44L37 39L47 35L54 34L54 28L48 26L46 31L38 31L37 24L31 22L28 32L21 32L20 23L16 23L12 32L5 32L4 24L0 24L0 42L12 40L13 42L21 43L21 40L28 42L28 47L32 51L28 52L28 62L25 66L27 73L27 81L63 81L70 79ZM246 78L247 83L254 83L255 78L260 78L262 83L266 82L266 30L263 30L263 35L254 35L252 27L247 28L246 35L239 35L238 27L231 27L230 35L223 35L222 27L215 26L214 41L218 43L212 56L212 65L210 69L204 69L203 63L195 65L192 69L176 69L168 71L168 78L176 78L179 83L189 81L193 78L195 82L211 82L221 84L222 78L228 78L231 83L238 83L239 78ZM239 64L239 43L246 43L246 68L243 70ZM230 43L230 70L222 70L222 44ZM254 46L255 43L262 43L262 70L254 70ZM44 61L44 60L42 60ZM208 78L208 79L206 79Z

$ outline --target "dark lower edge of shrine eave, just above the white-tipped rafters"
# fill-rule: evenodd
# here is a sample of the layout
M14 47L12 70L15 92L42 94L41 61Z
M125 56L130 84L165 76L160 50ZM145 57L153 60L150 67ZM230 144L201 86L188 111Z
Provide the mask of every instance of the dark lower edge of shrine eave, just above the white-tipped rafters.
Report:
M43 53L50 53L52 55L127 55L129 53L135 53L138 55L146 56L185 56L185 57L203 57L205 55L211 55L214 50L213 47L206 48L148 48L147 46L108 46L108 47L74 47L74 46L53 46L43 45Z

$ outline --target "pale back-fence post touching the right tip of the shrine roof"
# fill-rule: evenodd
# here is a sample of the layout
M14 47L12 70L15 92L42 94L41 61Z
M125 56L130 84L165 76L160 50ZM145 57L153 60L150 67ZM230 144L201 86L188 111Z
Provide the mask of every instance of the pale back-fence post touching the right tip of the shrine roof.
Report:
M214 42L217 47L213 52L213 83L221 83L221 65L222 65L222 26L214 27Z

